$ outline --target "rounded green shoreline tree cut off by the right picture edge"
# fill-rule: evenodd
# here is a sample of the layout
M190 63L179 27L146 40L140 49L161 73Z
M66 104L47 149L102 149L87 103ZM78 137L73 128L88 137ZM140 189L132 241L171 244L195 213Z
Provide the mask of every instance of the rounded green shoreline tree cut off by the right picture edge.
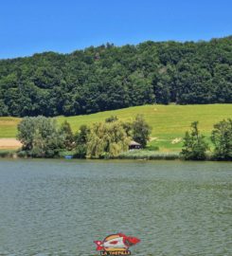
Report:
M222 120L214 125L211 140L214 157L218 160L232 160L232 119Z

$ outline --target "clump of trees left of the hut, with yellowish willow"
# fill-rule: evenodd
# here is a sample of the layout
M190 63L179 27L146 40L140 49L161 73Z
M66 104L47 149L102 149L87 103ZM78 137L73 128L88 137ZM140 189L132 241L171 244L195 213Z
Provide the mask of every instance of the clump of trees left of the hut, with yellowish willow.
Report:
M111 158L127 152L131 139L145 147L151 131L141 115L133 122L112 116L92 126L82 125L75 135L67 121L59 127L55 119L27 117L18 125L17 137L23 145L19 155L56 157L69 152L79 158Z

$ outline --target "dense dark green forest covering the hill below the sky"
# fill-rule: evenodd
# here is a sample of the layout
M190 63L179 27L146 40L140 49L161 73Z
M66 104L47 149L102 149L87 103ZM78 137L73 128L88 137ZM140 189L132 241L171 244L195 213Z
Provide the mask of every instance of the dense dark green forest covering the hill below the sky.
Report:
M0 61L0 116L71 116L170 102L232 102L232 36Z

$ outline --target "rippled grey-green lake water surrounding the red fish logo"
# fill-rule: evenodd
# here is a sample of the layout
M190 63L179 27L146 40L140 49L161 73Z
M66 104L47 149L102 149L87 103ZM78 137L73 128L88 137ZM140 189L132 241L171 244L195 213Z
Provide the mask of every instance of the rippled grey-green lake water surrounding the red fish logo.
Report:
M0 160L0 255L232 255L232 163Z

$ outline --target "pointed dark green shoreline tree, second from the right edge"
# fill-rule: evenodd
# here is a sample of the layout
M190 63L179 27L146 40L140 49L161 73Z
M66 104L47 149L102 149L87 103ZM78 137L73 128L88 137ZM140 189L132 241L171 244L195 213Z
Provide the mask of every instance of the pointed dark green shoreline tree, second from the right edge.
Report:
M181 155L186 160L205 160L208 144L205 137L200 134L198 129L198 121L191 123L191 132L186 132Z

